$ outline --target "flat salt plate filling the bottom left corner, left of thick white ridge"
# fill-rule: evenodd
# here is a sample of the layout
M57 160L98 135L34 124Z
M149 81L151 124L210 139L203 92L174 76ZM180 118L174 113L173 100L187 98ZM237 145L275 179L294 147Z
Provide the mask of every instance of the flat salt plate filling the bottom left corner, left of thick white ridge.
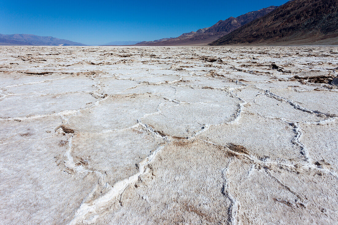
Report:
M7 193L0 197L4 202L1 212L11 211L2 218L4 223L24 224L29 220L32 223L59 221L66 224L97 182L91 174L72 177L64 172L63 153L67 151L68 143L66 136L54 132L60 123L59 117L0 123L0 130L7 133L0 133L0 148L6 149L1 151L1 183L6 186L2 190ZM11 197L11 192L17 196ZM49 200L45 201L46 198ZM67 207L63 207L65 205ZM46 208L51 215L31 214L31 210L44 211ZM16 217L18 214L23 217Z

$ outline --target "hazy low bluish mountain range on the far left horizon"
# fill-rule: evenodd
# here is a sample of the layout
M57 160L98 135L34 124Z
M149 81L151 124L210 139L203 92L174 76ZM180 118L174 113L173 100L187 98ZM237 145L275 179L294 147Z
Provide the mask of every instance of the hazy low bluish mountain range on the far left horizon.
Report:
M0 45L85 46L78 42L33 34L0 34Z

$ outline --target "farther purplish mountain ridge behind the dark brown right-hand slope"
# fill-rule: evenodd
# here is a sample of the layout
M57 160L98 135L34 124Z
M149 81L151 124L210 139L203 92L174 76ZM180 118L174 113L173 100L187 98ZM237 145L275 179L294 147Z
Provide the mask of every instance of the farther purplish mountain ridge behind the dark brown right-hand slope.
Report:
M238 29L243 26L260 18L277 6L270 6L263 8L257 11L248 12L244 15L238 17L230 17L226 20L220 20L211 27L206 27L198 29L196 32L191 31L189 33L184 33L177 38L164 38L155 41L145 41L137 43L137 46L170 46L170 45L196 45L196 44L208 44L212 41L217 40L218 38Z

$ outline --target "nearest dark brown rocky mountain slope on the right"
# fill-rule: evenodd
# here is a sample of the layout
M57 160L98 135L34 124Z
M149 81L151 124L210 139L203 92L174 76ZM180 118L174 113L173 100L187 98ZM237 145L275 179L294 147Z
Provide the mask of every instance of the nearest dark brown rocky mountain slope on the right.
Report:
M338 45L338 0L293 0L210 45Z

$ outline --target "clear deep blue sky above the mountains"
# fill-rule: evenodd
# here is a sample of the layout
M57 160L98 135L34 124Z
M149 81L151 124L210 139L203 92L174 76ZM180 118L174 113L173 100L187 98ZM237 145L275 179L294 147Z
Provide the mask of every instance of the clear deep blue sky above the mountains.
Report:
M0 33L53 36L84 44L150 41L209 27L287 0L0 0Z

